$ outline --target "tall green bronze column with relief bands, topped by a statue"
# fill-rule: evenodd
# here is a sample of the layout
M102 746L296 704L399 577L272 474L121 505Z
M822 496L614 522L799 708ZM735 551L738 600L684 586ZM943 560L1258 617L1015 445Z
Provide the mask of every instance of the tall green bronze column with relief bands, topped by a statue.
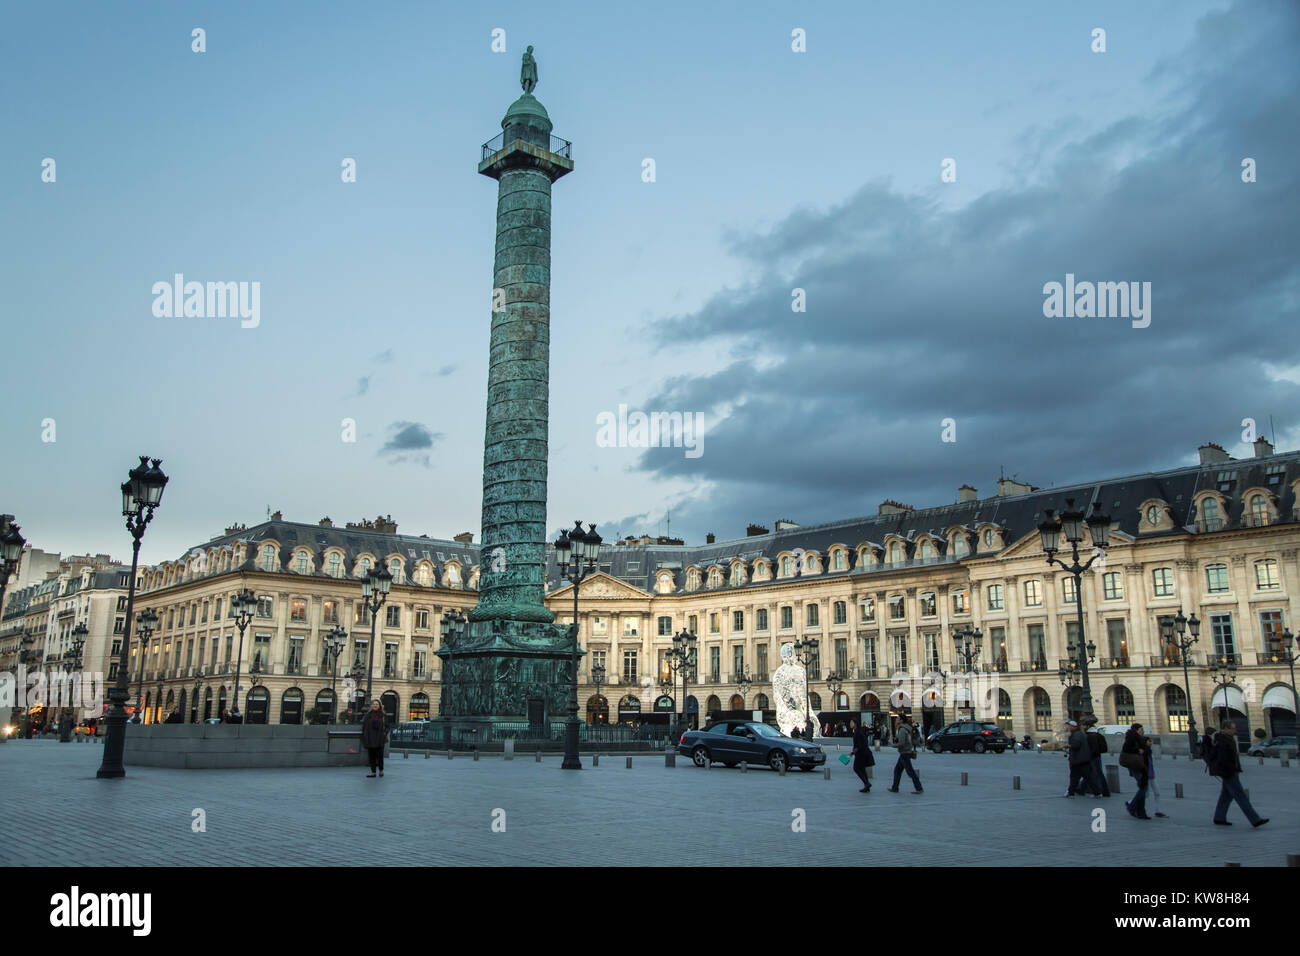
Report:
M572 676L568 628L545 605L545 562L551 183L573 160L533 96L532 49L524 95L478 164L498 183L478 605L464 635L437 652L442 715L476 734L502 721L559 724Z

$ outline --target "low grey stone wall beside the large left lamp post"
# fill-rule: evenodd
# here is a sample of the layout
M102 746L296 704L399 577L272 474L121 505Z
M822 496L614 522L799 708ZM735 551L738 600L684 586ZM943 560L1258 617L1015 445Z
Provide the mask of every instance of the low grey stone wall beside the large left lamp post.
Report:
M360 730L346 724L150 723L126 726L122 762L185 770L359 767L365 750Z

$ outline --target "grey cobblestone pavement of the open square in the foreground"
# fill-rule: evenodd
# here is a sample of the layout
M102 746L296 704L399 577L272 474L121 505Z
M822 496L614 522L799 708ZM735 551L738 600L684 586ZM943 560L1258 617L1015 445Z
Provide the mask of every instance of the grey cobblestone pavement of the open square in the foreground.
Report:
M1201 763L1167 757L1157 782L1170 817L1143 822L1124 812L1124 797L1062 799L1060 754L923 754L922 795L906 777L900 793L885 790L888 749L871 793L858 792L833 749L829 780L820 770L706 771L685 757L670 769L662 754L634 757L632 770L625 757L606 756L599 767L584 757L577 773L560 770L559 756L398 753L373 780L364 767L130 766L126 779L99 780L101 754L94 744L0 745L0 864L1280 866L1300 853L1300 766L1253 758L1243 758L1243 782L1271 819L1258 830L1235 806L1235 826L1213 826L1217 782ZM1131 796L1127 774L1122 786ZM1106 812L1105 832L1092 830L1095 808ZM191 827L195 809L204 832ZM493 830L494 810L504 812L504 832Z

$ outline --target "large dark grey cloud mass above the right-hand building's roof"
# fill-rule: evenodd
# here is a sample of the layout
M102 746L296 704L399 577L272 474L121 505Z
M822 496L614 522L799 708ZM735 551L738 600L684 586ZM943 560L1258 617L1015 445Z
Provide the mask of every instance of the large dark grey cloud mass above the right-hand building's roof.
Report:
M1173 86L1158 111L1026 131L1019 187L950 211L874 181L729 235L757 278L651 326L720 356L642 406L705 412L701 458L640 460L696 484L675 529L939 505L963 481L992 493L1002 467L1037 485L1167 468L1235 444L1243 418L1280 427L1300 388L1262 364L1300 362L1297 48L1300 8L1239 4L1153 72ZM1150 282L1150 326L1044 317L1066 273Z

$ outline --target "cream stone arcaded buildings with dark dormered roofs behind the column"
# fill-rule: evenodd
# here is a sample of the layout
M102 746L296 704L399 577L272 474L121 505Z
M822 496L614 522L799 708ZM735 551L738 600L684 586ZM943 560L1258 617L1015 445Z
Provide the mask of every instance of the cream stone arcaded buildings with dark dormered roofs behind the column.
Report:
M928 727L974 706L1017 736L1050 736L1078 709L1078 692L1058 678L1076 605L1072 578L1044 559L1037 523L1072 499L1083 510L1100 502L1112 518L1110 546L1083 576L1098 717L1160 734L1176 734L1190 714L1199 727L1218 723L1222 711L1210 705L1225 704L1225 692L1208 665L1223 656L1234 665L1226 704L1239 732L1294 732L1290 669L1269 637L1290 628L1297 609L1300 453L1273 454L1266 442L1256 451L1235 460L1208 445L1199 464L1165 472L1052 489L1002 480L984 498L963 486L952 505L889 501L867 518L783 520L775 532L751 525L746 537L706 545L606 544L578 596L580 706L593 721L667 721L680 709L681 683L670 687L664 652L688 630L698 637L686 691L693 722L770 709L780 645L816 637L810 689L823 722L890 722L910 711ZM571 585L554 553L547 561L547 606L569 623ZM190 717L220 713L239 644L230 597L248 587L259 613L240 670L256 662L261 672L240 682L257 704L246 715L296 721L317 704L328 709L321 639L344 627L339 674L364 665L370 627L360 576L380 562L394 585L376 622L374 695L398 719L437 714L438 626L443 613L474 605L477 545L278 516L144 571L139 604L160 615L144 666L151 706L183 696ZM1158 623L1179 610L1202 622L1188 656L1190 701L1182 659L1162 645ZM966 627L982 632L974 676L963 674L953 637ZM599 693L597 663L606 670ZM744 696L741 675L751 680ZM344 685L341 676L341 706Z

